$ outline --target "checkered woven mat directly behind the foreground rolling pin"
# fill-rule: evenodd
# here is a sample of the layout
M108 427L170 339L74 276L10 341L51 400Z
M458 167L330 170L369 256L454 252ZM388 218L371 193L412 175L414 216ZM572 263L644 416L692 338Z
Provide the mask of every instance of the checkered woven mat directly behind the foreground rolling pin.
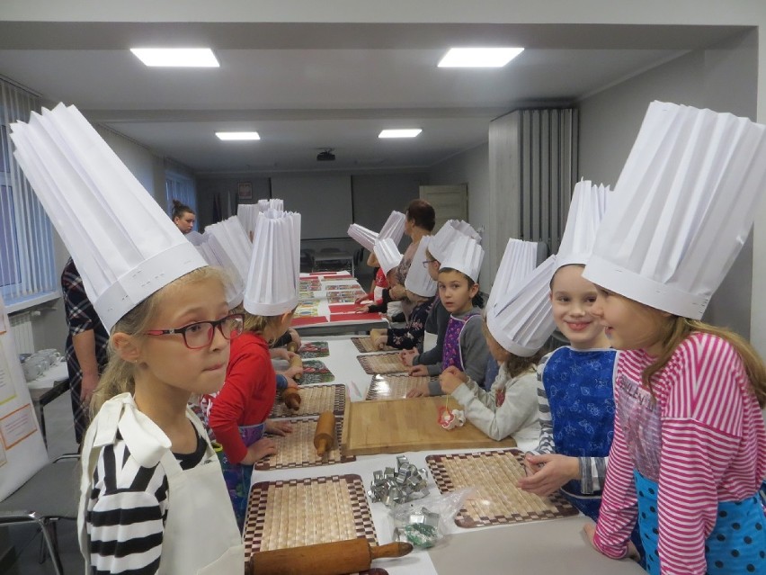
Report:
M263 481L250 488L245 561L258 551L362 537L378 544L359 475Z

